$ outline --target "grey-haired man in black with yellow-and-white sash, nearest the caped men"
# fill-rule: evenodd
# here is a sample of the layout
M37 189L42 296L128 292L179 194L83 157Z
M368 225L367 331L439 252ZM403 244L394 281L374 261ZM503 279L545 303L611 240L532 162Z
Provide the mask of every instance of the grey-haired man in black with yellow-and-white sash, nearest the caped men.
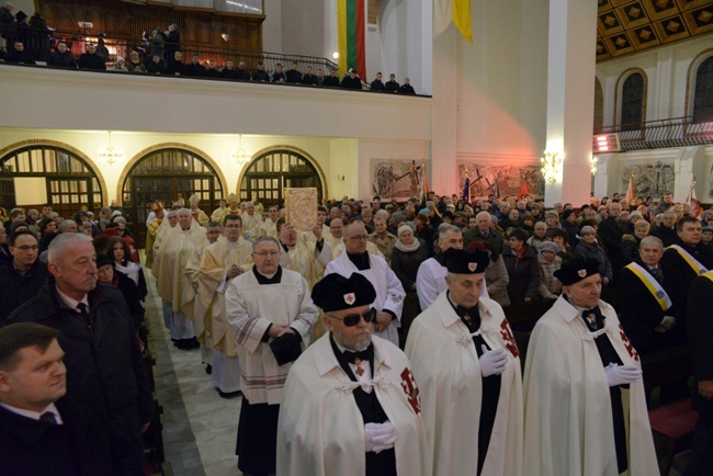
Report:
M668 276L659 264L663 256L661 240L646 237L640 243L638 257L622 270L621 286L626 290L626 298L619 309L621 321L642 355L675 343L671 330L676 318L668 313L674 303L665 291Z

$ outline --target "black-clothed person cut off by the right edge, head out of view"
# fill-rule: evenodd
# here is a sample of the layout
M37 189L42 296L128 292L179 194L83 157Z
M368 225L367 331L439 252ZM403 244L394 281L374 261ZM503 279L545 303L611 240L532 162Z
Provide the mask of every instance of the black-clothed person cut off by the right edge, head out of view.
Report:
M687 475L703 475L713 467L713 272L693 280L688 295L688 343L693 360L695 392L693 410L698 421L691 442L691 460Z

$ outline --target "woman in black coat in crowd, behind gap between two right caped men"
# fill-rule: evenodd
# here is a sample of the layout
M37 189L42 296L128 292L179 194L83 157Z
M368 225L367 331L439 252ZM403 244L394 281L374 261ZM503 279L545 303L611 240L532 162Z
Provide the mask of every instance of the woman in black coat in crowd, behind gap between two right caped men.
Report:
M508 296L513 306L530 303L537 297L542 274L534 247L528 246L528 234L514 228L510 233L509 247L502 250L502 260L508 270Z

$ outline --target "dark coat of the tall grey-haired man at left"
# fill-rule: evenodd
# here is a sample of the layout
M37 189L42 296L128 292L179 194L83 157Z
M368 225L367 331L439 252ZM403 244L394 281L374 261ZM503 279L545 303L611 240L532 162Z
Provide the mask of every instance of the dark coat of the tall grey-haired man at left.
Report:
M115 460L143 460L139 427L154 404L131 313L118 290L98 285L89 293L90 321L68 308L49 276L39 293L10 315L8 324L37 322L60 333L67 395L89 408L110 434Z

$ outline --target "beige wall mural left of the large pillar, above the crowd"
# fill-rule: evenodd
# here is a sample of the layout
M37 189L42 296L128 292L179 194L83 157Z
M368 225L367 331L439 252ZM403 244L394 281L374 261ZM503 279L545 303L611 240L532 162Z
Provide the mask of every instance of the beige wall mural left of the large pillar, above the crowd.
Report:
M420 197L426 160L371 159L372 192L382 201Z

